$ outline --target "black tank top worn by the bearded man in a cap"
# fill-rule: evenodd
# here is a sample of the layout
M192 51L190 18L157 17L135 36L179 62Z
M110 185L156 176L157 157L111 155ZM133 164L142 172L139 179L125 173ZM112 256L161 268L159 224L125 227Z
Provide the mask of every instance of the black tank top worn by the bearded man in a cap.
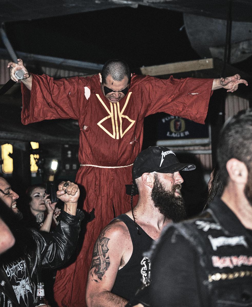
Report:
M150 262L148 258L143 256L143 253L150 249L154 240L137 225L140 231L139 235L134 221L126 214L121 214L116 219L123 221L128 227L133 251L126 265L118 270L111 292L129 300L134 297L143 283L148 284L149 282Z

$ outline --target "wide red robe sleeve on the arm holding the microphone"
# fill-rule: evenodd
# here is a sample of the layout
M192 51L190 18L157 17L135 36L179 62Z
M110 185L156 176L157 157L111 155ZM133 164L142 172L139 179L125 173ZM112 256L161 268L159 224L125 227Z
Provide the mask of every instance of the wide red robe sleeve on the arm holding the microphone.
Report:
M74 77L54 80L47 75L34 74L32 77L31 91L21 83L23 124L44 119L78 119L80 103L85 100L85 82L88 84L88 79Z

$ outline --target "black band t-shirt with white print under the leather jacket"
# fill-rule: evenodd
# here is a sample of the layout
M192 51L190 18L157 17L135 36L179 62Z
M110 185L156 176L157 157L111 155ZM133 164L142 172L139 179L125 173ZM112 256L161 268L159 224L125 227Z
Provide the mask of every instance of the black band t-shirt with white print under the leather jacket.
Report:
M4 263L3 269L10 280L19 306L32 306L34 299L24 259L18 258L13 262Z

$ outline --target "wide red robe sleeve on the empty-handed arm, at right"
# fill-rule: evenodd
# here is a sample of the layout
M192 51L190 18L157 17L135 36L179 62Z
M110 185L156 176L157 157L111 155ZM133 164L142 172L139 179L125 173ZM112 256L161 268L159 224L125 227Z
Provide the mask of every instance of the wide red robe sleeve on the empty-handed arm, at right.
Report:
M209 99L212 95L213 79L185 78L144 79L144 101L148 103L146 116L165 112L205 123Z

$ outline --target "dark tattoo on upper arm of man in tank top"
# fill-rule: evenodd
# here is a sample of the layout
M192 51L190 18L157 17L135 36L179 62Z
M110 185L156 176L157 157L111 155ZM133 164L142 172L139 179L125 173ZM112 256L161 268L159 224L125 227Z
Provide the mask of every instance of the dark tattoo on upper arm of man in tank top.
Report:
M94 251L93 251L93 259L91 263L91 269L95 267L95 274L101 280L105 271L108 270L110 265L108 253L108 238L104 237L104 231L99 235L96 240Z

